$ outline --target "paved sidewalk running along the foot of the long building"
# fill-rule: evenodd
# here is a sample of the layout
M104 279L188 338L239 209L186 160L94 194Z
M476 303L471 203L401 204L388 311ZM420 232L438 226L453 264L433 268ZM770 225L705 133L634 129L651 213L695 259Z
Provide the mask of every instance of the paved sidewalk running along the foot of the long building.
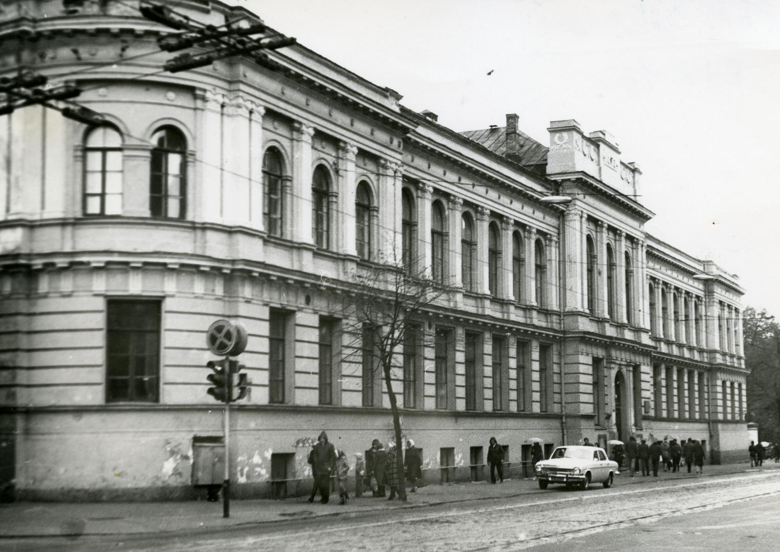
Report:
M661 473L660 477L629 477L622 472L615 479L615 487L647 485L668 479L694 479L729 473L757 472L780 469L780 463L765 462L761 468L750 468L750 462L728 465L705 465L704 474ZM435 504L480 501L489 498L544 494L533 479L505 479L503 484L478 483L429 484L417 493L409 494L409 501L388 501L384 498L363 496L351 498L349 504L339 505L338 494L331 495L328 504L310 503L307 497L285 500L231 501L230 518L222 517L221 502L100 502L100 503L41 503L16 502L0 504L0 539L33 536L80 535L142 535L144 533L193 533L212 529L258 523L281 522L291 519L310 519L354 512L382 511L399 508L424 508ZM335 498L335 500L334 500Z

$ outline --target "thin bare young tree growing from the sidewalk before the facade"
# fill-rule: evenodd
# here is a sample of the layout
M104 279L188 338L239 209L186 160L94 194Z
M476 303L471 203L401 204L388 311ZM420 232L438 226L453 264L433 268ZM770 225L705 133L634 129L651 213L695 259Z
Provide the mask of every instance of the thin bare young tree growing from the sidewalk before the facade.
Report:
M456 289L448 285L445 278L434 279L425 268L418 269L421 263L413 265L409 267L392 262L358 267L349 281L350 291L346 293L342 319L342 334L349 336L347 339L352 345L345 348L342 359L362 356L365 348L371 347L375 356L372 382L377 373L385 382L395 433L399 500L402 501L406 501L403 441L399 399L392 384L393 369L402 368L398 359L403 345L416 337L417 328L424 322L426 313L445 306ZM366 383L363 381L363 385Z

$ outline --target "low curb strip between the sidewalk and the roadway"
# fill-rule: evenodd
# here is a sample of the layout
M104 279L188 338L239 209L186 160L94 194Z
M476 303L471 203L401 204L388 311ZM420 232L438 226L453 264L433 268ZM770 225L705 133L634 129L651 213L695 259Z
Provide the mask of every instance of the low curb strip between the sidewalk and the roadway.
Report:
M734 471L729 472L721 472L721 473L702 473L699 475L696 474L690 474L690 476L686 473L685 476L680 477L679 479L700 479L703 477L714 477L714 476L728 476L735 473L746 473L746 472L761 472L761 471L768 471L768 469L753 469L750 467L747 467L746 469L736 469ZM644 476L638 476L640 479L634 479L633 483L630 483L632 485L643 485L647 483L656 483L663 480L668 479L658 479L651 477L650 479L645 480ZM628 476L626 476L626 479L628 479ZM521 481L523 479L520 479ZM456 483L457 485L464 484L464 483ZM14 540L14 539L69 539L69 540L76 540L82 537L87 538L99 538L99 537L108 537L108 536L125 536L126 538L145 538L149 536L154 535L165 535L165 536L182 536L182 535L190 535L195 531L203 531L203 532L227 532L232 529L246 529L247 527L252 526L262 526L267 525L270 523L280 523L280 522L293 522L293 521L310 521L313 519L318 518L335 518L337 516L348 516L348 515L361 515L364 512L371 512L371 511L386 511L388 509L392 510L400 510L400 509L419 509L419 508L430 508L433 506L441 506L445 504L463 504L467 502L475 502L475 501L488 501L488 500L500 500L505 498L517 498L517 497L523 497L528 495L536 495L536 494L547 494L548 491L541 490L541 489L532 489L532 490L523 490L519 493L513 493L513 494L502 494L500 496L496 497L466 497L456 500L441 500L441 501L432 501L432 502L420 502L415 504L410 504L408 502L406 503L399 503L398 501L394 501L392 504L387 504L385 506L380 505L374 505L374 506L367 506L367 508L363 508L360 511L325 511L321 514L314 514L314 515L307 515L307 516L301 516L296 518L289 518L289 519L266 519L266 520L257 520L257 521L249 521L249 522L238 522L238 523L232 523L230 525L219 525L219 526L213 526L209 525L207 527L195 527L195 528L189 528L189 529L171 529L171 530L165 530L160 529L156 531L138 531L133 533L69 533L69 534L57 534L57 535L29 535L29 534L19 534L19 535L0 535L0 542L3 540ZM238 501L240 502L240 501ZM389 501L386 501L389 502Z

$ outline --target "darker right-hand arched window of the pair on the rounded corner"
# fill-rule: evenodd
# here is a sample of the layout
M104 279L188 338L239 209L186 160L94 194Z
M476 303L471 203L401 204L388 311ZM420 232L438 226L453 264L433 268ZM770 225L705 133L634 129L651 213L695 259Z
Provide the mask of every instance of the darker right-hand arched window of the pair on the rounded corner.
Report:
M184 218L186 213L187 142L175 126L163 126L151 137L151 216Z

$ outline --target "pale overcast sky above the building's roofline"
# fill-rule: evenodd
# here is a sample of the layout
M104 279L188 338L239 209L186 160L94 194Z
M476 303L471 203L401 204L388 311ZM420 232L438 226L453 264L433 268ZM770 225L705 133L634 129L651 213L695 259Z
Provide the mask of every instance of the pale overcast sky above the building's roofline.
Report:
M647 231L780 317L780 2L231 0L456 131L550 121L615 136ZM492 71L490 75L488 72Z

